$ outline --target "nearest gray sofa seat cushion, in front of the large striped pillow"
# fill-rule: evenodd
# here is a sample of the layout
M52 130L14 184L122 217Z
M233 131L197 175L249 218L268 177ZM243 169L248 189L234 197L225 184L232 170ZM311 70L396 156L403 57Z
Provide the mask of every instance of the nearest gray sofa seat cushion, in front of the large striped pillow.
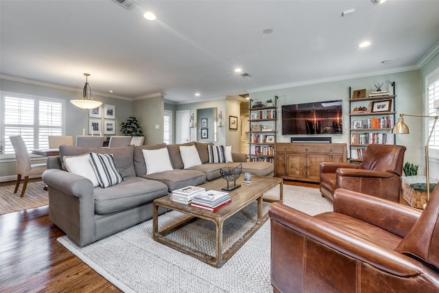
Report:
M139 207L167 195L167 186L153 180L129 177L122 183L95 188L95 213L105 214Z

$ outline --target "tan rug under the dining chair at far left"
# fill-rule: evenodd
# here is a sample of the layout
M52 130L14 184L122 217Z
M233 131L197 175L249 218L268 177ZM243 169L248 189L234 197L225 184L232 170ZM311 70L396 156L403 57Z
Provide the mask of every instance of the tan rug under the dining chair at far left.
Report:
M14 194L15 185L6 185L0 187L0 215L12 213L14 211L23 211L35 207L43 207L49 204L49 196L44 188L43 181L27 183L24 196L21 198L21 183L19 190Z

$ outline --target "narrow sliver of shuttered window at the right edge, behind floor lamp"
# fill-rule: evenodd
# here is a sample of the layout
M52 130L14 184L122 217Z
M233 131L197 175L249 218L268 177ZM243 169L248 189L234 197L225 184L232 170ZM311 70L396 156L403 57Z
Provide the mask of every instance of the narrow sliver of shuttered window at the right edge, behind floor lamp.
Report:
M432 73L427 78L427 101L428 101L428 115L436 116L438 115L439 106L439 69ZM428 133L433 127L434 119L429 119L428 121ZM429 141L430 147L439 147L439 122L434 128L434 133L431 134L431 139Z

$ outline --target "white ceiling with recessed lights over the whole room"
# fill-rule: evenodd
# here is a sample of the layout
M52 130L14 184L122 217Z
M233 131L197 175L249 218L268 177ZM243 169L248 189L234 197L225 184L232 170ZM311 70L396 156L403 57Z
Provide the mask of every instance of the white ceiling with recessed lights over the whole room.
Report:
M75 89L91 73L93 92L198 102L415 68L439 51L438 12L424 0L0 0L0 73Z

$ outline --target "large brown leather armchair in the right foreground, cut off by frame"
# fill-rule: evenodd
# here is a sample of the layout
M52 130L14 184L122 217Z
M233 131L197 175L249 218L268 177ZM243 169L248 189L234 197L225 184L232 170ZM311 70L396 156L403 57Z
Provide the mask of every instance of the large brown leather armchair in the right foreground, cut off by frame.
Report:
M269 214L274 292L439 292L439 185L422 213L337 189L333 212Z

